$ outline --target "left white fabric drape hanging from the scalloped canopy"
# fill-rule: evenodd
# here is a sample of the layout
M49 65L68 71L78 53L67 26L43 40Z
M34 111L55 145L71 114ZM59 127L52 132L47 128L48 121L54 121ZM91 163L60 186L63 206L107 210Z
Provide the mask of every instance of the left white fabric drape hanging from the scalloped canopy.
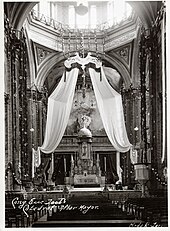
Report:
M44 153L52 153L64 135L72 107L78 71L78 68L74 68L64 73L59 85L48 98L45 139L43 145L38 147L38 152L41 150Z

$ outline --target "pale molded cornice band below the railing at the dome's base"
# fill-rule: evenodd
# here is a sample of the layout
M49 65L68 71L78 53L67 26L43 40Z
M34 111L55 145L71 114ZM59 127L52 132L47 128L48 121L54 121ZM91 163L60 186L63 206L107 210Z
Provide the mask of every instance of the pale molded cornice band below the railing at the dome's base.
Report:
M127 39L132 40L136 35L135 31L138 24L137 17L133 16L132 21L128 21L128 23L123 25L121 24L118 28L111 27L108 30L103 29L101 31L99 29L83 30L85 35L84 48L88 51L96 51L96 53L105 53L105 51L127 43ZM26 28L33 42L41 44L44 47L48 46L48 48L55 51L64 51L68 56L71 51L75 52L80 48L81 33L77 32L77 29L75 31L68 31L68 28L65 28L63 31L63 27L60 29L57 27L54 30L49 25L47 26L35 20L31 14L27 18Z

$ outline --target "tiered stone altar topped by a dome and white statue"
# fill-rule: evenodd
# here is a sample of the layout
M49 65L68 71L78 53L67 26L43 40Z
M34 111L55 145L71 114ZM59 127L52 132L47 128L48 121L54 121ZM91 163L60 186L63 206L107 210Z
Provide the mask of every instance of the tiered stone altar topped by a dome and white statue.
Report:
M78 133L78 156L71 157L70 176L65 178L65 183L75 187L104 186L105 176L101 175L99 155L94 158L92 152L92 133L86 127L90 117L82 117L83 127Z

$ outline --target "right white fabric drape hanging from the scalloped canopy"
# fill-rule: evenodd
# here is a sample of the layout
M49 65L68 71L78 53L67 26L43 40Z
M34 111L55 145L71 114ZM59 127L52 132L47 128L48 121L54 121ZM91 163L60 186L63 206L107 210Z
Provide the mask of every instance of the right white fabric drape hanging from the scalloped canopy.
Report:
M107 136L117 151L127 152L131 144L125 128L121 95L109 85L102 67L102 81L100 73L94 69L89 68L89 73Z

